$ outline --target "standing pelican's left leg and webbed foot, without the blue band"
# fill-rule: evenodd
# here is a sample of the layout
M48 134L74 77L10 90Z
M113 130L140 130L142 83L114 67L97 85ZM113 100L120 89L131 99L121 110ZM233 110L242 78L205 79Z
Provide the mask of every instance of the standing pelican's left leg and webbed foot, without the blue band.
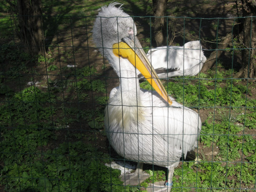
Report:
M150 175L146 172L143 172L143 163L138 163L135 172L121 175L121 181L124 182L124 185L138 185L141 182L144 182L148 179Z

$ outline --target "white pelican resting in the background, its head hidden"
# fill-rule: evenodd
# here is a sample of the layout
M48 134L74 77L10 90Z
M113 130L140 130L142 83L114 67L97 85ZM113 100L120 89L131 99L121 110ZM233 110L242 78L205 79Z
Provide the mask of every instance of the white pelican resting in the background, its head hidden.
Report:
M181 47L156 47L148 51L147 57L160 78L197 75L206 61L199 40L189 41Z

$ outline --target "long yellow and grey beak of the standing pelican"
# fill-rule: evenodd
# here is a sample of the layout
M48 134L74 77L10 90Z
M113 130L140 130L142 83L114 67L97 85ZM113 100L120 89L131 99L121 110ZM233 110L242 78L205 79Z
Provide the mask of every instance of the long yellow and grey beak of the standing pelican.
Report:
M133 64L145 77L145 79L152 85L155 91L166 101L169 105L172 104L172 100L168 97L165 88L160 81L155 69L148 61L148 57L143 51L138 38L135 36L125 37L120 42L113 44L113 53L117 56L127 58L131 64Z

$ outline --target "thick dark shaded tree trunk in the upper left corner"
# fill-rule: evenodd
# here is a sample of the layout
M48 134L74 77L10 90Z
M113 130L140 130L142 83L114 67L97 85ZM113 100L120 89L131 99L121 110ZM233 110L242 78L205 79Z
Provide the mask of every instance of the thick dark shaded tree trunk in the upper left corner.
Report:
M17 0L20 40L30 55L44 54L41 0Z

